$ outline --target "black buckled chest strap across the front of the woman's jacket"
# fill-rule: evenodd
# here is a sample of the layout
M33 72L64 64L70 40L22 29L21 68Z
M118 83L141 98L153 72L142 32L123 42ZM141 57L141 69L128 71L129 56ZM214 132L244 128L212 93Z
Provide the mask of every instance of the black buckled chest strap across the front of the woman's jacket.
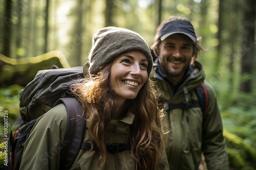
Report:
M130 144L128 143L112 143L112 144L105 144L106 151L110 153L117 153L122 151L129 151L131 150ZM83 142L81 145L82 150L91 150L92 145L89 142ZM96 144L94 144L92 151L99 151L99 148Z

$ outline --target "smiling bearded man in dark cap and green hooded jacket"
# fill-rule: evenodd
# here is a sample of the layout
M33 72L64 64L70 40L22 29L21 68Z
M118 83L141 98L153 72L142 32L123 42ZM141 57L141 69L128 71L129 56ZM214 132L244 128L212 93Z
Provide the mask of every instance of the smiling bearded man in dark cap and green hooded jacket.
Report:
M156 57L151 76L166 106L166 154L172 170L199 169L202 153L208 169L226 170L226 141L216 93L195 60L203 50L198 40L188 20L170 17L158 27L151 46ZM199 103L196 88L202 83L208 94L205 115L200 105L195 106Z

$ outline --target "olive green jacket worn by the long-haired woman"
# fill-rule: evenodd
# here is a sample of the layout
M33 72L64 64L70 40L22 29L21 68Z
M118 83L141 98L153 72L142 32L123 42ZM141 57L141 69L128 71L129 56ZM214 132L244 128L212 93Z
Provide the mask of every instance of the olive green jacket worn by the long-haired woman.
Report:
M111 120L105 129L105 143L128 143L134 114L127 113L121 120ZM113 132L116 126L115 132ZM42 115L33 127L25 143L20 169L59 169L60 148L67 128L67 111L60 104ZM84 131L84 142L89 141L88 130ZM166 158L166 155L165 155ZM99 152L80 150L70 169L99 169ZM165 168L169 169L167 159ZM108 153L102 169L137 169L130 151Z

